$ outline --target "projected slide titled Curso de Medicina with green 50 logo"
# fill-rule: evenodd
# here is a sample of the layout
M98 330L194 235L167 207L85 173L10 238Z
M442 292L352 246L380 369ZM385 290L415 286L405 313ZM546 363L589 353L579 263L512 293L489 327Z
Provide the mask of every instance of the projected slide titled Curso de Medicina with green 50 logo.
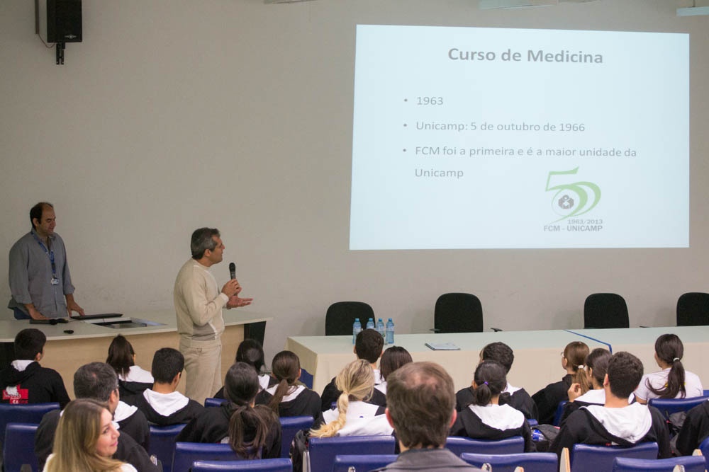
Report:
M358 25L350 249L683 248L689 38Z

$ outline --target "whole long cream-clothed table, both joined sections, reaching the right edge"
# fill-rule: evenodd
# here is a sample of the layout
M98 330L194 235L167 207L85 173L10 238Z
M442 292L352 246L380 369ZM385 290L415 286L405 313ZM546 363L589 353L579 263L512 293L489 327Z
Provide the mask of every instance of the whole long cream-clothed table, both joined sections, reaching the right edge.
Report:
M709 359L709 326L400 334L396 335L394 345L405 347L414 361L427 360L441 364L453 377L455 388L459 389L471 384L482 347L501 341L515 353L508 381L513 386L524 387L532 395L564 376L561 352L572 341L582 341L591 350L605 347L611 352L632 352L642 361L644 372L649 373L659 370L654 361L654 343L659 335L665 333L679 336L684 345L684 367L700 379L706 379L709 384L709 363L706 362ZM430 350L425 346L429 342L451 342L460 350ZM301 367L313 375L313 390L318 393L345 364L355 359L352 336L291 337L286 340L285 349L300 357Z

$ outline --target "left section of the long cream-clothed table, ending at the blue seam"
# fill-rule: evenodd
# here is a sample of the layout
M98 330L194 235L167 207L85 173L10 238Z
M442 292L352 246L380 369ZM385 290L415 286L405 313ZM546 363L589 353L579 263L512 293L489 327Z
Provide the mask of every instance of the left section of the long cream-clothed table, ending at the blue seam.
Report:
M414 361L441 364L450 373L458 390L470 386L478 364L480 350L489 343L501 341L515 353L508 381L527 392L543 388L564 376L561 353L572 341L583 341L588 347L607 347L566 330L500 331L486 333L397 334L394 345L406 348ZM434 351L425 343L454 343L460 350ZM389 347L384 346L384 349ZM313 390L320 393L331 379L352 362L352 336L294 336L286 340L286 350L301 359L301 368L313 375Z

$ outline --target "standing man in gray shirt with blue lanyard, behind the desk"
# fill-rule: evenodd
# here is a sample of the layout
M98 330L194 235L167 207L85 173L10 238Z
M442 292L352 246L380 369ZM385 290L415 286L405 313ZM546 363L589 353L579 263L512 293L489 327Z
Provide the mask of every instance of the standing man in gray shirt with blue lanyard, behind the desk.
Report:
M10 292L8 308L18 320L84 315L74 301L67 251L54 232L57 224L51 203L40 202L30 209L32 231L10 249Z

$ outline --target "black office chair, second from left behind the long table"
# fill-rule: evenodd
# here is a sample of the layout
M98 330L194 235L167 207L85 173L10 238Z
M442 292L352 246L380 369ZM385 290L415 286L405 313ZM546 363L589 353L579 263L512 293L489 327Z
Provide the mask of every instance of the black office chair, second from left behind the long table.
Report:
M433 313L435 333L481 333L483 306L473 294L442 294Z

